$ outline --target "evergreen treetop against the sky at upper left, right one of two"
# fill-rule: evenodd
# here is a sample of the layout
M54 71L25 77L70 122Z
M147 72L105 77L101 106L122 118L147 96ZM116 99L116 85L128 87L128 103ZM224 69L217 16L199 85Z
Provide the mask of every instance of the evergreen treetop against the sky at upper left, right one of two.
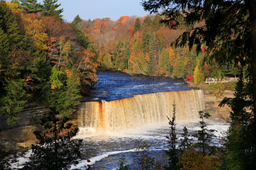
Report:
M45 11L46 15L48 16L58 16L63 17L63 15L60 15L61 12L63 12L63 8L56 10L60 7L61 4L57 4L58 0L44 0L43 10Z

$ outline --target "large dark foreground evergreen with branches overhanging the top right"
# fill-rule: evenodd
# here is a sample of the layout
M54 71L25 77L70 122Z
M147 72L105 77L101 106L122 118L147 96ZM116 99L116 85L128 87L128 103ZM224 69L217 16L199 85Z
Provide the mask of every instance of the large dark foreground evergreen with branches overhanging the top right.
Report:
M144 10L150 13L161 11L163 20L170 28L180 25L178 18L185 15L185 31L175 42L176 46L188 43L191 49L206 49L204 56L218 63L233 63L251 67L254 129L256 129L256 2L253 0L231 1L187 1L187 0L144 0ZM163 11L162 11L163 10ZM201 23L202 26L196 26ZM221 43L220 43L221 42ZM209 60L212 61L212 60ZM256 136L256 130L254 130Z

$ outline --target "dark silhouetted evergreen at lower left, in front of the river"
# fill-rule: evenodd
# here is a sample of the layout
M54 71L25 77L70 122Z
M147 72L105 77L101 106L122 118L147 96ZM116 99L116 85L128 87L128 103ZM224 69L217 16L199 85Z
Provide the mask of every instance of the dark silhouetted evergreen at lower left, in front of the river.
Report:
M69 118L58 118L56 107L51 107L51 110L41 122L45 131L34 131L40 142L39 145L32 145L32 155L29 158L31 162L26 163L24 170L68 170L71 164L78 164L82 139L71 140L76 136L78 128L71 130L72 123L68 122ZM63 133L66 135L63 136Z

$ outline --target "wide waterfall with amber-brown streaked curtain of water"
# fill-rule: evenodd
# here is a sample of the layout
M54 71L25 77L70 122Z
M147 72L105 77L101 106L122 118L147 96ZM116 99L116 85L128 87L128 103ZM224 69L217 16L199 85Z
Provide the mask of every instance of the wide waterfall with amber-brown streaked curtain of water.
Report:
M176 120L195 120L198 111L205 108L202 90L156 92L112 101L84 102L78 105L78 126L96 131L120 131L166 122L166 116L172 117L173 101Z

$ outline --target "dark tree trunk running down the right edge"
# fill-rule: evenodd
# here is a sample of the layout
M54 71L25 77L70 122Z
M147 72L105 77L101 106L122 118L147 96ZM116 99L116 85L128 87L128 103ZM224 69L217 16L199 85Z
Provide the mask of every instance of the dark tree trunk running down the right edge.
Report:
M256 1L247 0L245 1L251 21L251 41L252 41L252 98L253 98L253 114L254 114L254 137L256 137Z

